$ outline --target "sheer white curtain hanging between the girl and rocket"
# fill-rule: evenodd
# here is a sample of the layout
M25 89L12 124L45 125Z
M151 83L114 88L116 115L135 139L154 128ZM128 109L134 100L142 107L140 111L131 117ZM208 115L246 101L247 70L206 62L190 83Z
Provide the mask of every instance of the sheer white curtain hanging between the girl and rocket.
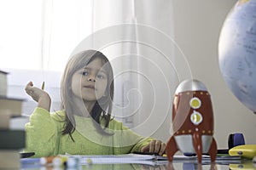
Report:
M172 96L184 78L174 65L183 54L172 41L173 24L170 0L95 0L93 34L77 48L91 45L111 59L115 118L164 141L172 133Z

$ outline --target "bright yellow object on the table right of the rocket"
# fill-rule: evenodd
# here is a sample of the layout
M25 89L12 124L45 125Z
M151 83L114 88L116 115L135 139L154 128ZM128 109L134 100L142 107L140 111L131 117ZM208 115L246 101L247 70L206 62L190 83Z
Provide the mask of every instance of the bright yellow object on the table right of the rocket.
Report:
M253 159L256 156L256 144L243 144L229 150L230 156L242 156Z

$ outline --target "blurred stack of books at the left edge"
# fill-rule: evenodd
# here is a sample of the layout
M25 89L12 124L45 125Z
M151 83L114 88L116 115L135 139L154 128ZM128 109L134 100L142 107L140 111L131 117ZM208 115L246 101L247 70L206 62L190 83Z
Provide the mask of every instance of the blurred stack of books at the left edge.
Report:
M22 117L23 99L8 97L7 75L7 72L0 71L0 169L19 169L20 150L26 143L25 130L10 125L13 119Z

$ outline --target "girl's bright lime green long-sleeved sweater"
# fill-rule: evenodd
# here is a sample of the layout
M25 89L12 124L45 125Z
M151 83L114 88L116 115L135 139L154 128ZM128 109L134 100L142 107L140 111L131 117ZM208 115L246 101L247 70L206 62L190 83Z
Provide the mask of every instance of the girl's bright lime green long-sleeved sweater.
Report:
M121 122L109 122L109 132L113 135L98 133L90 117L75 116L76 129L62 135L65 112L49 113L37 107L26 123L26 149L35 152L34 157L72 155L119 155L139 151L152 138L143 138L132 132Z

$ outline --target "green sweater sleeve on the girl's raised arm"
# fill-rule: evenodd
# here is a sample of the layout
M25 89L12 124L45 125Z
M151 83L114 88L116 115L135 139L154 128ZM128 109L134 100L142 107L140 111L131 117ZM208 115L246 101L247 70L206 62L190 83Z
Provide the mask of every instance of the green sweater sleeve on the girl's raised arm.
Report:
M34 157L57 155L60 133L49 111L37 107L25 129L26 151L35 152Z

